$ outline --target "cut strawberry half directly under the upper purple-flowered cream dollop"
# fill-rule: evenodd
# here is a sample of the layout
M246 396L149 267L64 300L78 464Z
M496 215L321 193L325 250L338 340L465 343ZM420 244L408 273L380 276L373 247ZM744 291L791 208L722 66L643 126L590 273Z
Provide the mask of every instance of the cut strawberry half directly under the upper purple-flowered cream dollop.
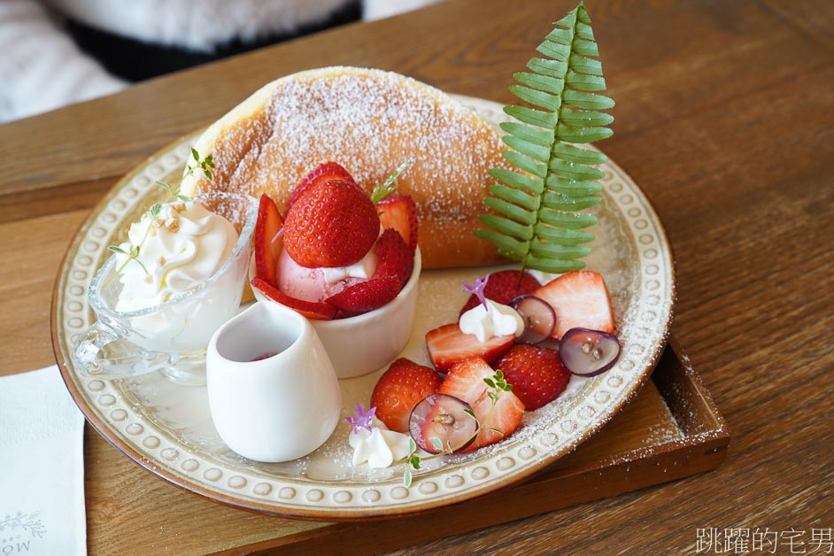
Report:
M426 333L426 347L435 368L444 373L452 365L470 357L481 357L488 363L498 359L513 345L514 334L492 336L486 342L479 342L473 334L460 331L457 322L429 330Z

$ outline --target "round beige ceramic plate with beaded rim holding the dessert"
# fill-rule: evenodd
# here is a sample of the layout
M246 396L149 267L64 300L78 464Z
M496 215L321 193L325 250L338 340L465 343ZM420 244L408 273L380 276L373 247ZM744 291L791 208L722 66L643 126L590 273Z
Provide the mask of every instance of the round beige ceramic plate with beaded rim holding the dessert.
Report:
M485 120L504 120L502 107L460 100ZM151 473L205 498L263 514L315 520L360 520L444 506L505 487L570 452L609 421L635 395L666 342L674 299L668 240L637 185L609 161L602 166L603 202L588 267L601 272L611 292L622 355L591 379L573 377L560 398L525 414L512 436L465 456L451 456L414 474L403 486L403 464L369 470L351 467L350 426L342 420L328 442L302 459L265 464L244 459L223 444L212 424L205 387L181 386L161 375L104 381L80 375L70 353L94 320L89 282L127 226L158 196L157 180L181 174L195 139L189 136L127 174L89 216L66 253L52 301L52 335L67 387L90 424ZM418 315L403 355L428 364L426 331L457 319L472 283L493 270L425 271ZM382 369L344 380L343 417L367 405ZM314 415L299 415L314 419Z

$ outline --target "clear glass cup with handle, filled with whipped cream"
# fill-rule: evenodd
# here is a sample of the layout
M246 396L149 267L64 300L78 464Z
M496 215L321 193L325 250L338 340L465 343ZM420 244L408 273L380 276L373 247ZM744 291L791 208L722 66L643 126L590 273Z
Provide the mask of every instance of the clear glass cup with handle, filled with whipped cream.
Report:
M205 384L205 348L240 306L256 218L252 197L215 192L133 224L90 284L97 322L74 345L76 367L104 379L159 371Z

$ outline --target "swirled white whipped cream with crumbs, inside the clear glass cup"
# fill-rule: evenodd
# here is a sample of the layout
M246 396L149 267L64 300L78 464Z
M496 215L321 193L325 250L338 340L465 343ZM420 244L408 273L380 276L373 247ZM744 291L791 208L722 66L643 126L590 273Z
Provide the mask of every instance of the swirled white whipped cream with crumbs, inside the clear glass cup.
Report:
M162 205L156 218L144 213L127 231L129 253L140 246L137 260L116 254L123 285L116 310L137 311L168 301L212 277L228 259L237 242L235 227L203 205L176 201ZM139 264L139 263L142 264ZM147 272L146 272L147 271Z

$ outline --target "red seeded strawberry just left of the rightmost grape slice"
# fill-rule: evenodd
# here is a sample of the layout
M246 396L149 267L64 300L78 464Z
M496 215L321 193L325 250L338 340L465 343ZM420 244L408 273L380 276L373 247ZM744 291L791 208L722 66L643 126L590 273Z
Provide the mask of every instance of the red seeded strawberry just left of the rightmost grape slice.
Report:
M537 345L515 344L492 366L501 369L513 393L531 411L559 398L570 381L559 351Z

